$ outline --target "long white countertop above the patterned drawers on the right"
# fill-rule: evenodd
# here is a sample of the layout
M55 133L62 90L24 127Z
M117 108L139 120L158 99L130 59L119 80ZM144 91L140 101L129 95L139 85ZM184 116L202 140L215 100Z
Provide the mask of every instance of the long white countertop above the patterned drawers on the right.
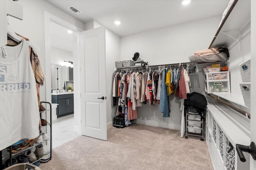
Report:
M232 118L228 116L227 112L233 112L232 109L222 110L213 105L209 108L209 105L211 104L208 103L208 114L211 114L233 146L236 146L236 144L245 146L250 145L250 135L247 135L240 127L230 120Z

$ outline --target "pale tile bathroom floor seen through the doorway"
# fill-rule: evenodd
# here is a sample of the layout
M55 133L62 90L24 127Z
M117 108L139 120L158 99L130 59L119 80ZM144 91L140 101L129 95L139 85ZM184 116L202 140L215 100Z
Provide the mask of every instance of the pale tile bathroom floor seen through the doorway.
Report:
M52 122L52 148L56 148L76 137L80 136L74 132L74 114L58 117Z

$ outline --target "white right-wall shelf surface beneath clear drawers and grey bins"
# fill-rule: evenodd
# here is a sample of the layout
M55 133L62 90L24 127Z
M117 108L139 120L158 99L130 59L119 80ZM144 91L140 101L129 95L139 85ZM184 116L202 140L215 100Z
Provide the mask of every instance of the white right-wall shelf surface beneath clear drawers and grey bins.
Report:
M247 107L244 105L244 98L242 95L239 95L239 94L232 94L232 93L212 93L214 94L215 96L218 96L220 98L223 98L225 100L228 100L232 103L235 103L235 104L238 104L240 106L243 106L243 107ZM247 107L248 108L248 107Z

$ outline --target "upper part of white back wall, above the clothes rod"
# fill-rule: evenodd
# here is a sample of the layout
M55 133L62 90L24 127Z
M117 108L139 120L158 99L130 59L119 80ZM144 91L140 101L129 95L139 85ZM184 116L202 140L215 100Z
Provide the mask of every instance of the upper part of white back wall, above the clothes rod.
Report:
M195 51L208 48L220 20L212 17L122 37L121 60L138 52L149 64L188 62Z

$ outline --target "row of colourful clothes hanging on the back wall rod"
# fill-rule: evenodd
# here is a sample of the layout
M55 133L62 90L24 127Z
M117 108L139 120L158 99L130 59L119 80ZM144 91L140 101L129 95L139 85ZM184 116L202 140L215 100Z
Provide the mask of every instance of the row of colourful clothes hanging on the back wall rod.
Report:
M126 125L130 120L138 117L137 107L142 106L142 103L149 105L158 103L163 117L170 117L169 95L174 94L175 85L175 96L181 99L186 99L188 88L192 90L190 78L184 68L182 71L179 68L173 70L166 68L143 73L118 72L114 74L114 77L116 78L113 78L113 96L118 96L119 93L118 105L122 106L120 114L124 114L125 121L128 122Z

